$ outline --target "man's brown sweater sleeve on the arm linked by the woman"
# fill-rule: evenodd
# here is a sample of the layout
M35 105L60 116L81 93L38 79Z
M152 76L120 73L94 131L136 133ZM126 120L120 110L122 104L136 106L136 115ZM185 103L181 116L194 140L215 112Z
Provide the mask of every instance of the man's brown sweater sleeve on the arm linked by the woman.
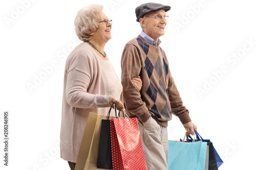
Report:
M132 83L132 79L139 76L141 71L140 56L136 46L133 44L126 44L121 58L123 86L123 98L126 111L130 115L138 116L142 123L145 123L151 117L145 102L141 100L140 92ZM141 77L143 82L143 78Z

